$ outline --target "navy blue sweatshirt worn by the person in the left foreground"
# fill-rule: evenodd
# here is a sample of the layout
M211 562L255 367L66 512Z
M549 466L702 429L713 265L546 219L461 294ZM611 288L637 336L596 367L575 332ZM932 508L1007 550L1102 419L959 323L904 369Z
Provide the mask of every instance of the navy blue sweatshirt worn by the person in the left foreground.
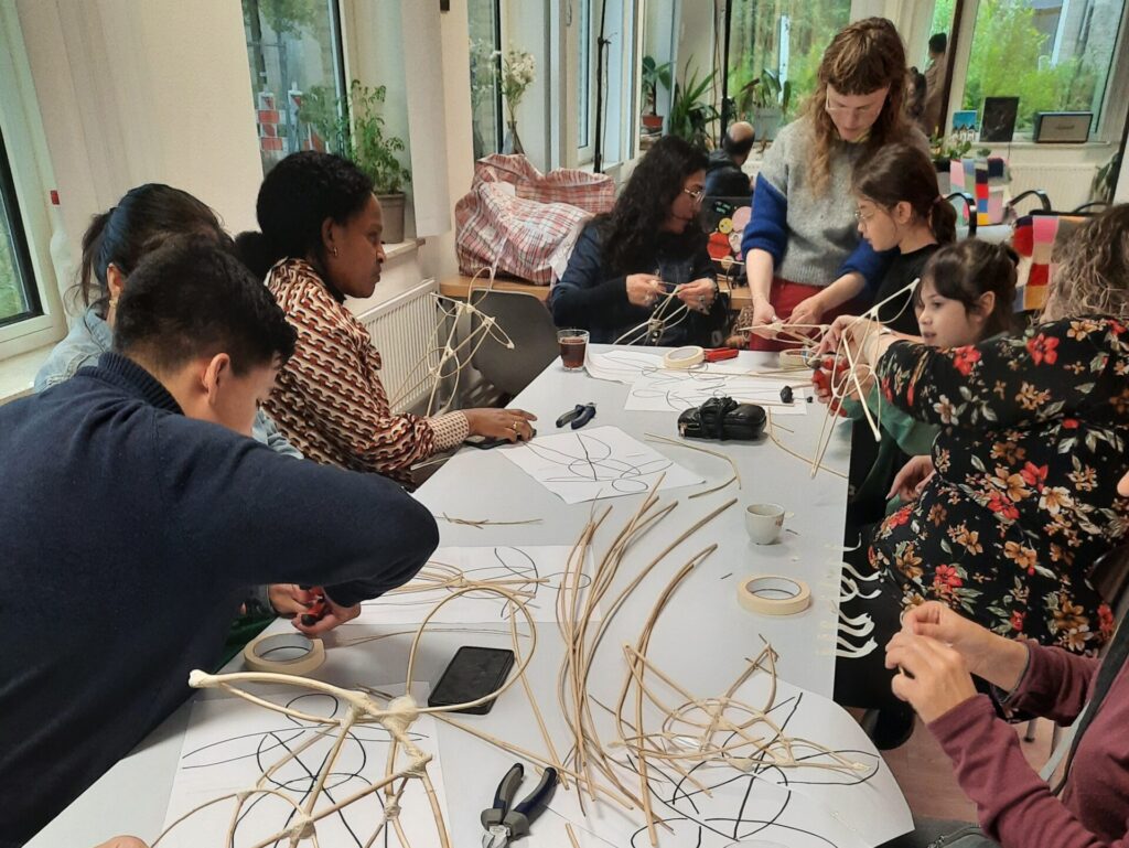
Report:
M438 544L395 483L185 418L129 359L0 408L0 845L21 845L210 668L246 591L352 605Z

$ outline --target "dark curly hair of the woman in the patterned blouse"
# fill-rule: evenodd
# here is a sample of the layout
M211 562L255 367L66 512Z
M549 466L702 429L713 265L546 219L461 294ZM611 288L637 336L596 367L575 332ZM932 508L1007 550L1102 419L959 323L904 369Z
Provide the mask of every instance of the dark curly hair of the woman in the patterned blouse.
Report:
M283 259L324 265L322 225L345 224L373 194L373 181L348 159L314 150L291 154L271 168L259 189L255 215L262 233L240 233L243 261L260 279Z

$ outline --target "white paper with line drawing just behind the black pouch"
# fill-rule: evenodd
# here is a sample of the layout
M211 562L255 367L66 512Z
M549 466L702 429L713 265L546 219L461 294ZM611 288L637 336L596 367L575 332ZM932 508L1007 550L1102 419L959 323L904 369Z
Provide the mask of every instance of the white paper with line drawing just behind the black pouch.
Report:
M773 416L806 416L807 390L793 388L793 402L780 400L787 385L764 379L707 369L642 371L631 383L624 409L633 412L681 412L700 406L710 397L732 397L737 403L772 404Z

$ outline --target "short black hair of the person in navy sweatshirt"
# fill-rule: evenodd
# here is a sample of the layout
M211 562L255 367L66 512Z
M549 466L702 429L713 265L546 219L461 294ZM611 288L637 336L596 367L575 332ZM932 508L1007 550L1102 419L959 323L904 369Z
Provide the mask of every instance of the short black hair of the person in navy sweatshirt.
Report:
M294 355L297 333L266 287L215 239L177 236L147 254L117 304L114 350L163 373L227 353L244 375Z

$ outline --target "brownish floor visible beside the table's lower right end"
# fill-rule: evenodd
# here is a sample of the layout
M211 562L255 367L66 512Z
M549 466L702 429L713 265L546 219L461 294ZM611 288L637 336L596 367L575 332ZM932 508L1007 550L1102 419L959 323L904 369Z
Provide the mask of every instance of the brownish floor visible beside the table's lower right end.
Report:
M1016 725L1022 737L1026 725ZM1035 723L1035 741L1022 742L1027 761L1041 769L1050 757L1051 723ZM918 720L913 736L899 749L886 751L883 757L894 772L910 810L917 816L974 821L975 806L956 785L953 767L945 752L929 731Z

